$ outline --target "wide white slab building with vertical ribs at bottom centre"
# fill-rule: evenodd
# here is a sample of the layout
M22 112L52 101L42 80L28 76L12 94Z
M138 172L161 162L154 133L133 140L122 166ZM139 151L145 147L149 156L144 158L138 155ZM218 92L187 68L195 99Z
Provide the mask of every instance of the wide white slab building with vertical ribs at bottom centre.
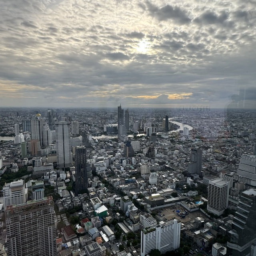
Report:
M152 228L141 230L140 255L145 256L157 249L164 254L180 247L180 222L168 220Z

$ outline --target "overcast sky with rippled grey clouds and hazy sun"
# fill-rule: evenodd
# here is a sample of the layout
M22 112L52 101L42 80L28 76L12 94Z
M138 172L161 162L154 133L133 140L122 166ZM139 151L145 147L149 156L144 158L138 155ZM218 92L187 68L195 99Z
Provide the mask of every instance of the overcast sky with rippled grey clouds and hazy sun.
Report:
M255 26L255 0L1 1L0 106L256 108Z

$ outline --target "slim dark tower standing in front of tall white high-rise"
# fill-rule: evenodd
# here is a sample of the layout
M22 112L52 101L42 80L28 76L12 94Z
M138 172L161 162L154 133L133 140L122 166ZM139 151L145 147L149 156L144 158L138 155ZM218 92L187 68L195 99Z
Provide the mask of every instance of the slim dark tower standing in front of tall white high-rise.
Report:
M75 155L76 166L76 186L75 192L78 195L87 189L87 170L86 170L86 148L76 147Z

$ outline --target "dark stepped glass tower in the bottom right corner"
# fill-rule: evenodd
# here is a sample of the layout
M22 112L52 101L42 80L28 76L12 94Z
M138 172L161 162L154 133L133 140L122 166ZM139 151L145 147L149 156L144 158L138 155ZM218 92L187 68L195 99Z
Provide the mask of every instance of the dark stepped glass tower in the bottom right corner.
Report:
M255 255L256 241L256 190L242 192L240 202L232 222L232 230L228 232L227 255ZM251 254L250 254L251 252Z

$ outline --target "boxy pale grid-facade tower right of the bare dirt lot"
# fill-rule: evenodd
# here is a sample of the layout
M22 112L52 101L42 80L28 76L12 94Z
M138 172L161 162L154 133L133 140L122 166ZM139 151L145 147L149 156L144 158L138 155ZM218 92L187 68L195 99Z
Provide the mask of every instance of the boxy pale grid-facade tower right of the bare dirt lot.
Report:
M208 212L220 216L228 208L229 181L215 178L209 181Z

